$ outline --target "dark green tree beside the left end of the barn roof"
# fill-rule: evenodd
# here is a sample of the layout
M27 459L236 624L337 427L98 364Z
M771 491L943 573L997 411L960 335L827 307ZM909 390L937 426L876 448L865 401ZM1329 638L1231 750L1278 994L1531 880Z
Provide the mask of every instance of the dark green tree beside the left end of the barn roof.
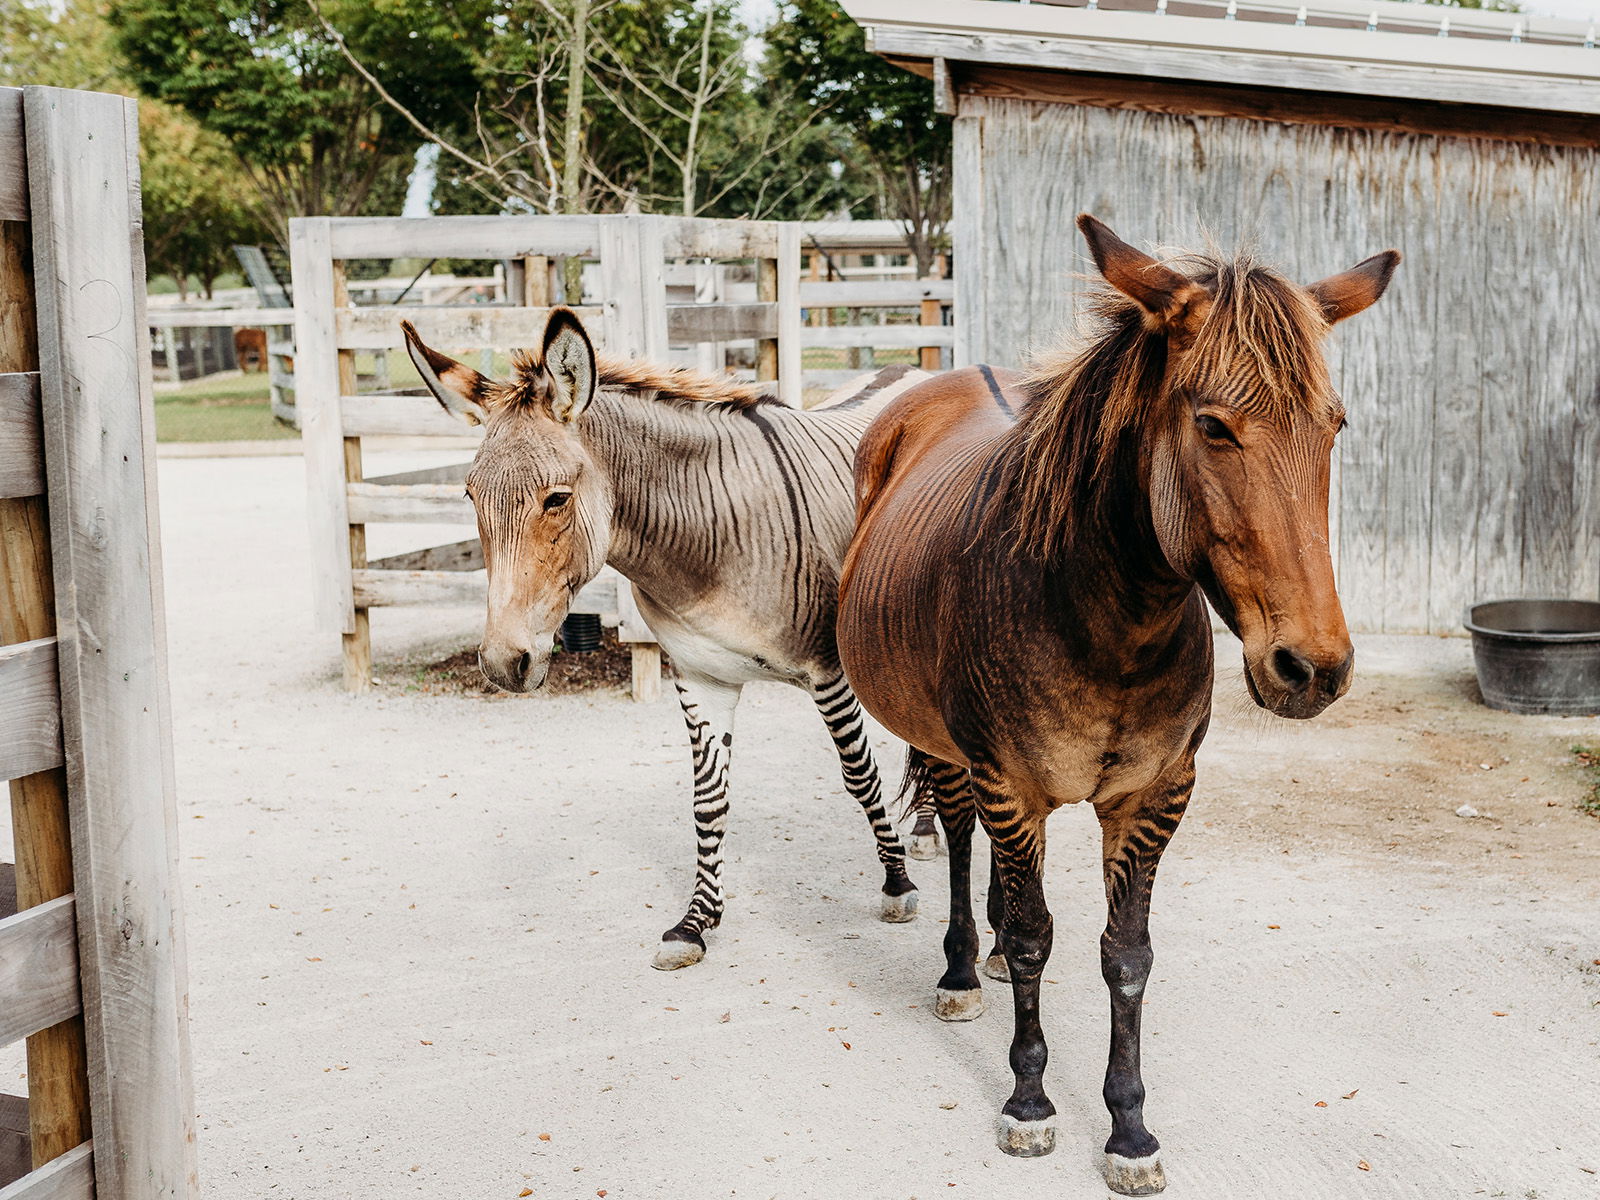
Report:
M867 51L861 27L834 0L784 0L766 34L766 74L827 112L870 173L885 216L906 226L917 272L928 275L950 221L950 118L931 85Z

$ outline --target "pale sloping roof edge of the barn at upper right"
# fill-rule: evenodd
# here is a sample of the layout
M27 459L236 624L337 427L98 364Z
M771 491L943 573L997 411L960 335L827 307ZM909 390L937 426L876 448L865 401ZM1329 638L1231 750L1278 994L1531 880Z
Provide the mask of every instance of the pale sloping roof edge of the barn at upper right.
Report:
M843 0L890 59L1600 115L1592 22L1397 0Z

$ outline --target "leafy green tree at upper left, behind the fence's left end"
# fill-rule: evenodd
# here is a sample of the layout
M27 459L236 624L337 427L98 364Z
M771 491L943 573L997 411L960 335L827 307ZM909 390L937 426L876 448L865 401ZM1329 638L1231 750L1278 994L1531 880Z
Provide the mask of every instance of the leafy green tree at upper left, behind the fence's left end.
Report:
M459 122L462 51L437 37L448 22L358 0L339 14L414 106ZM304 0L112 0L109 16L131 80L230 147L280 242L288 218L362 213L410 170L416 136L373 99Z

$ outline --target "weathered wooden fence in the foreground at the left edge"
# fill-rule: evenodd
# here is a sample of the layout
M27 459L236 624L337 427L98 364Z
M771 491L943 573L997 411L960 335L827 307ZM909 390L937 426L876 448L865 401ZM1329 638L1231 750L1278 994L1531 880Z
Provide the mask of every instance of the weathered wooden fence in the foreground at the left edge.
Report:
M0 88L5 1200L197 1190L138 163L133 101Z

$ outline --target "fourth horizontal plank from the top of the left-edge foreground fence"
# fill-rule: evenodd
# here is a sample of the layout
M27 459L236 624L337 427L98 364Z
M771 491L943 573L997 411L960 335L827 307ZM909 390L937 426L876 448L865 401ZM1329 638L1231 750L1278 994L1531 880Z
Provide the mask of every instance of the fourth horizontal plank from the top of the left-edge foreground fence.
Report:
M74 917L61 896L0 920L0 1046L78 1014Z

